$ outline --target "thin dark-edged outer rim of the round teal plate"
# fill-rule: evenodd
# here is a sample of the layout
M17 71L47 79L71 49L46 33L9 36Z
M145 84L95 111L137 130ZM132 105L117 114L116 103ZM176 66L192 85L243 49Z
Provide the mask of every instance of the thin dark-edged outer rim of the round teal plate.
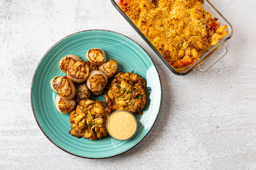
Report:
M115 33L115 34L121 34L121 33L117 33L117 32L110 31L110 30L90 29L90 30L79 31L79 32L70 34L70 35L68 35L68 36L65 36L64 38L62 38L61 40L59 40L57 43L55 43L54 45L52 45L52 46L49 48L49 50L44 54L44 56L43 56L43 57L40 59L40 61L38 62L37 68L38 68L39 64L41 63L42 59L48 54L48 52L49 52L55 45L57 45L58 43L60 43L62 40L68 38L69 36L72 36L72 35L78 34L78 33L88 32L88 31L104 31L104 32L111 32L111 33ZM126 38L130 39L131 41L133 41L135 44L139 45L137 42L135 42L135 41L134 41L133 39L131 39L130 37L128 37L128 36L126 36L126 35L124 35L124 34L121 34L121 35L122 35L122 36L125 36ZM156 116L156 118L155 118L155 120L154 120L154 123L150 126L149 131L148 131L139 141L137 141L137 142L134 144L134 146L129 147L128 149L123 150L123 151L120 152L120 153L117 153L117 154L114 154L114 155L111 155L111 156L107 156L107 157L86 157L86 156L81 156L81 155L77 155L77 154L74 154L74 153L72 153L72 152L69 152L69 151L67 151L66 149L64 149L64 148L62 148L62 147L60 147L60 146L58 146L55 142L53 142L53 141L45 134L45 132L43 131L43 129L41 128L41 126L38 124L38 121L37 121L37 118L36 118L36 114L35 114L35 111L34 111L34 107L33 107L33 103L32 103L32 86L33 86L33 81L34 81L34 78L35 78L35 74L36 74L36 72L37 72L37 68L36 68L36 69L35 69L35 72L34 72L34 74L33 74L32 82L31 82L31 87L30 87L30 102L31 102L31 108L32 108L33 115L34 115L34 117L35 117L35 119L36 119L37 125L39 126L40 130L41 130L41 131L43 132L43 134L49 139L49 141L50 141L51 143L53 143L56 147L59 147L61 150L65 151L65 152L67 152L67 153L69 153L69 154L71 154L71 155L73 155L73 156L76 156L76 157L85 158L85 159L106 159L106 158L115 157L115 156L121 155L121 154L124 153L124 152L127 152L128 150L130 150L130 149L132 149L133 147L135 147L136 145L138 145L138 144L149 134L149 132L152 130L152 127L155 125L155 123L156 123L156 121L157 121L157 119L158 119L158 115L159 115L159 112L160 112L160 108L161 108L161 106L162 106L162 83L161 83L161 79L160 79L160 76L159 76L158 68L157 68L155 62L154 62L153 59L149 56L149 54L146 52L146 50L145 50L141 45L139 45L139 46L140 46L141 49L147 54L147 56L151 59L152 63L154 64L154 66L155 66L155 68L156 68L156 70L157 70L158 79L159 79L159 82L160 82L161 96L160 96L160 104L159 104L159 108L158 108L158 113L157 113L157 116Z

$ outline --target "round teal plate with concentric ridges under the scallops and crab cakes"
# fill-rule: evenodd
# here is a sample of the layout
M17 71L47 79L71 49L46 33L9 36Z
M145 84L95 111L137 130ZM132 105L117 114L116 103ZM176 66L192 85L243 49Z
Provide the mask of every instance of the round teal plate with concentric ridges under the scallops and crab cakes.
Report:
M118 141L110 136L99 140L77 138L69 134L69 114L59 113L54 105L56 93L50 88L50 79L64 76L59 68L62 57L73 54L83 60L88 49L98 47L106 52L107 61L118 63L118 71L141 75L146 80L146 106L143 115L135 113L138 129L133 138ZM37 124L49 140L62 150L78 157L101 159L119 155L137 145L150 131L161 106L161 82L158 70L146 51L130 38L106 30L88 30L71 34L53 45L41 59L31 85L31 105ZM92 100L105 102L104 95Z

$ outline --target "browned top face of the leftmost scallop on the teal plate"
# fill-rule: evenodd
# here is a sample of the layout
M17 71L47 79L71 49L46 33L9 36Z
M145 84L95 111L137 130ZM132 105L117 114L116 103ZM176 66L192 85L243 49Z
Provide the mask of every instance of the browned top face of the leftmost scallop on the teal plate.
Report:
M53 88L57 90L60 96L67 97L72 94L72 86L67 76L56 77L52 82Z

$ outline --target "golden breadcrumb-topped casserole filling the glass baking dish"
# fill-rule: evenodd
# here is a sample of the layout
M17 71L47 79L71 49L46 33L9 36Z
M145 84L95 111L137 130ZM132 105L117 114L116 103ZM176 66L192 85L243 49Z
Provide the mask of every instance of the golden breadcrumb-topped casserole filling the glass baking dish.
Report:
M227 33L202 8L204 0L120 0L134 24L173 68L182 70Z

